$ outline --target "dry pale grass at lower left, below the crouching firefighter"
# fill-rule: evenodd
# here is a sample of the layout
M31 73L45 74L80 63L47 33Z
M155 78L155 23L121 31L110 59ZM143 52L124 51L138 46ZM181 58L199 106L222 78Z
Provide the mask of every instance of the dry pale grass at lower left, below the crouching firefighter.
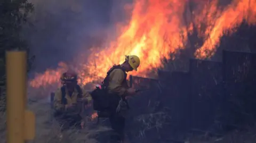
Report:
M36 115L36 137L29 143L97 143L96 137L101 132L109 131L107 127L96 126L94 121L88 121L83 130L70 129L61 132L59 124L50 120L50 104L46 102L33 102L28 105L29 110ZM5 114L0 115L0 142L5 141Z

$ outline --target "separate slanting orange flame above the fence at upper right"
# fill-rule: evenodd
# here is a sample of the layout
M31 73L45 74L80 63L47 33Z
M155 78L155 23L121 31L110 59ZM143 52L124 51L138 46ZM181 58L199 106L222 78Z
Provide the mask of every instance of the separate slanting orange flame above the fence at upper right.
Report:
M203 9L203 18L206 19L206 30L204 32L204 44L197 49L197 58L207 58L214 55L220 38L225 32L234 32L243 20L249 24L256 24L256 1L235 0L221 11L217 7L218 1L213 1ZM200 19L199 21L201 21Z

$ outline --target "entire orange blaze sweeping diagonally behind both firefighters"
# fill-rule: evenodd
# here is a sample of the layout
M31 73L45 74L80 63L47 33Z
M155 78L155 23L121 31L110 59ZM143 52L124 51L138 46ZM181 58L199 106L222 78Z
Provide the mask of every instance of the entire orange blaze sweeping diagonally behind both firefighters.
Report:
M162 67L162 60L171 58L171 53L190 48L188 37L197 31L203 40L197 47L196 58L210 58L220 44L220 38L232 33L245 20L256 24L256 1L234 0L229 5L219 6L214 1L188 0L136 0L133 4L129 24L123 26L121 34L105 48L91 48L87 61L73 67L81 76L79 83L99 81L113 64L124 61L124 55L137 55L141 59L138 72L145 77L150 70ZM189 5L196 5L195 10ZM70 65L69 65L70 66ZM58 82L60 73L68 65L61 63L56 70L46 70L30 81L31 87L41 87Z

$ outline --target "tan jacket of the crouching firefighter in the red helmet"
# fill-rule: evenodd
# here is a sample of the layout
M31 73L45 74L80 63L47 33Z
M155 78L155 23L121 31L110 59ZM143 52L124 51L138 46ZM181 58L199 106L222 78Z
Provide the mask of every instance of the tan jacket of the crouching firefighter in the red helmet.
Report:
M55 91L54 109L56 111L63 112L63 111L65 111L65 106L77 103L77 98L78 98L77 89L76 88L74 89L73 94L71 96L69 95L68 89L66 88L65 90L66 90L65 98L66 98L66 101L67 101L66 105L64 105L62 103L61 88L59 88L59 89L57 89L57 91ZM87 99L88 102L90 102L90 100L92 100L92 98L91 98L91 95L89 94L89 92L85 91L83 88L81 88L81 90L82 90L82 95L81 95L82 98L85 98L85 99Z

